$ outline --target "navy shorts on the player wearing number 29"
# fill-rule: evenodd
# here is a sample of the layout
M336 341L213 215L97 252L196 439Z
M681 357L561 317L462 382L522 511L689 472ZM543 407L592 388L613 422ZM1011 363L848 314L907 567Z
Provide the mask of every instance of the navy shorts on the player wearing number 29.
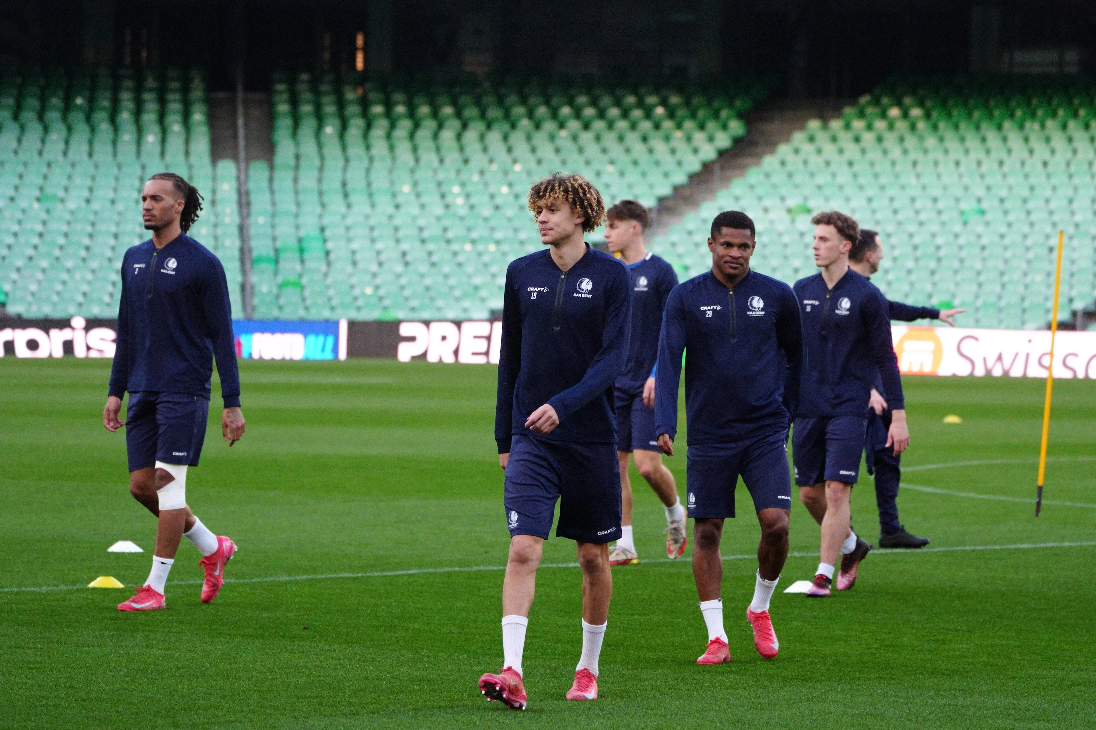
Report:
M739 475L754 500L754 510L791 509L787 431L729 443L698 443L687 451L688 515L734 517Z

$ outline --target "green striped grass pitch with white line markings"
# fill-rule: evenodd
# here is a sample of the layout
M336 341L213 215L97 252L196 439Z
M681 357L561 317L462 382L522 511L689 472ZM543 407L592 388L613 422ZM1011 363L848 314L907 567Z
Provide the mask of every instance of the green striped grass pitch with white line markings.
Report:
M114 606L128 589L75 588L100 575L142 582L151 556L155 522L128 495L124 434L101 425L110 363L0 361L0 727L1096 722L1089 381L1055 384L1048 502L1036 519L1043 383L907 378L912 488L899 506L933 549L872 553L856 588L829 601L778 592L774 661L754 651L744 618L758 534L744 490L723 546L733 662L701 668L694 662L706 634L688 558L665 560L661 507L632 472L643 561L614 571L602 698L563 700L581 641L580 575L566 565L573 544L552 538L530 616L523 714L476 688L502 660L507 533L492 440L494 369L241 367L247 436L228 449L212 408L187 485L197 515L240 546L230 582L201 604L199 556L183 541L168 610L122 614ZM949 413L963 422L944 425ZM684 494L684 456L667 463ZM854 490L853 509L875 542L870 482ZM792 512L794 556L779 590L809 578L818 560L818 526L798 501ZM107 553L117 540L147 552ZM983 546L1005 548L967 549Z

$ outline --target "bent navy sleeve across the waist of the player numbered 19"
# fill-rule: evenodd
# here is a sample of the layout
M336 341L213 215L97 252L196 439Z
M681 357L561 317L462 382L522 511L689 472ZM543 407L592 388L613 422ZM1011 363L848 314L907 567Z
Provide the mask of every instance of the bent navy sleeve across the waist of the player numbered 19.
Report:
M548 401L548 405L556 409L560 422L563 422L568 414L574 413L600 393L604 393L624 370L628 359L628 337L631 333L631 291L628 281L628 271L620 265L617 276L609 285L606 298L601 350L586 368L582 380Z

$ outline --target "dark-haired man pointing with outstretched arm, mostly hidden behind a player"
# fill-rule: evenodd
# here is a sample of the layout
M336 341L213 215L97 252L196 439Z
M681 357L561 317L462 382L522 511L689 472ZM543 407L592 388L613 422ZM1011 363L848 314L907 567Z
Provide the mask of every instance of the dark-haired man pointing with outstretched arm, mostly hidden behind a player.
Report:
M883 259L882 241L879 233L869 229L860 229L860 239L848 252L848 266L866 279L879 270ZM932 306L913 306L902 302L887 300L891 320L913 322L914 320L939 320L955 326L955 315L962 314L964 309L938 310ZM928 544L926 537L917 537L906 531L898 519L898 489L902 478L902 456L893 449L886 448L887 431L891 425L887 396L882 381L876 379L875 387L868 401L867 441L865 457L868 474L876 480L876 505L879 508L879 546L880 547L924 547Z

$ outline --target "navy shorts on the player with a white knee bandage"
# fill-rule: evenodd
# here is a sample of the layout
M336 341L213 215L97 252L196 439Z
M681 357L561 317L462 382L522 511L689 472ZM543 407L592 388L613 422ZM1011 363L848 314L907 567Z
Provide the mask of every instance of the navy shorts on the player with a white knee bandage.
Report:
M130 393L126 413L129 471L165 464L198 465L209 402L185 393Z

